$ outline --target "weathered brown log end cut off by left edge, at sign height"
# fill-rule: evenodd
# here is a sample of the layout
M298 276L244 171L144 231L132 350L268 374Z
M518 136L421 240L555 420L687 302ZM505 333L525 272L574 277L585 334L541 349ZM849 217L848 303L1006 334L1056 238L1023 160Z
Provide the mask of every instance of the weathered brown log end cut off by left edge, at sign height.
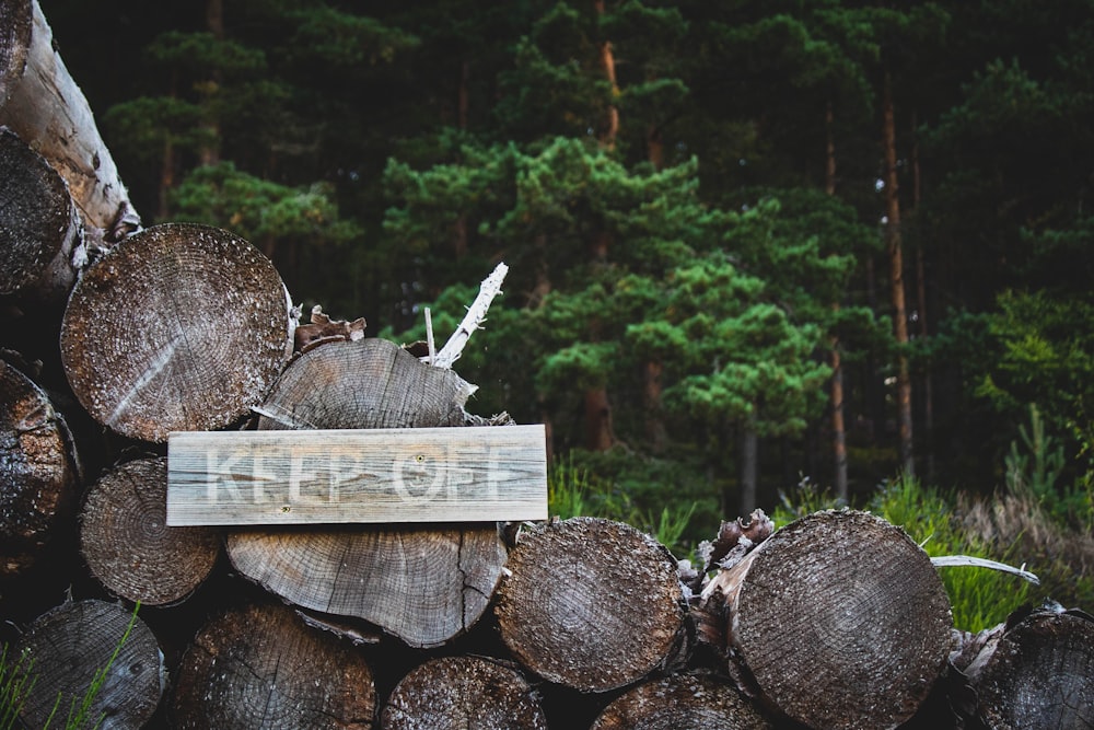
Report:
M48 396L0 360L0 578L34 565L71 515L78 470Z

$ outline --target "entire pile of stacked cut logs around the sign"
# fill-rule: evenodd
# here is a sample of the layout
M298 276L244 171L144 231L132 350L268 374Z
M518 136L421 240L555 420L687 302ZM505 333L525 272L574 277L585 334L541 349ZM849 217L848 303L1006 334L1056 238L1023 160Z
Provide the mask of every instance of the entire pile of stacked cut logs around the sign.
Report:
M1094 619L964 636L923 551L863 512L726 522L698 569L594 518L167 526L171 430L507 418L361 320L299 324L232 233L141 230L33 0L0 0L0 679L25 688L0 719L88 697L108 728L1090 727Z

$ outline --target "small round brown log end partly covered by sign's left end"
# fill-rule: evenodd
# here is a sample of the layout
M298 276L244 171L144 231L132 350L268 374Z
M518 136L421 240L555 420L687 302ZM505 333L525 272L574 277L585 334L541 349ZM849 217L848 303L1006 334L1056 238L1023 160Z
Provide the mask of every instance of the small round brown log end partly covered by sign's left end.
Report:
M80 551L115 595L147 605L185 600L220 554L212 528L166 525L167 460L140 459L100 477L80 514Z

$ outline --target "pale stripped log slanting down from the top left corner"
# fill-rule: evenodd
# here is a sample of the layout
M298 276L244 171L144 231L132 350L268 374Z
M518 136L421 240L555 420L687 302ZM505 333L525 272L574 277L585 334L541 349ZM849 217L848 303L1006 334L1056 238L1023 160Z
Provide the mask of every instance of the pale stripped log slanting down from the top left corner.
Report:
M0 124L68 183L93 245L140 225L83 92L54 49L37 0L0 1Z

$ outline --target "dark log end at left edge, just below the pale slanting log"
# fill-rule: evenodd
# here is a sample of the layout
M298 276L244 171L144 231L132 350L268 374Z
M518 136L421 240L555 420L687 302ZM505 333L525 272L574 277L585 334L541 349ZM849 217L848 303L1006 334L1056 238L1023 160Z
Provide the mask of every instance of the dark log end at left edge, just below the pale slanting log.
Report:
M40 154L0 127L0 296L57 301L86 255L68 186Z

